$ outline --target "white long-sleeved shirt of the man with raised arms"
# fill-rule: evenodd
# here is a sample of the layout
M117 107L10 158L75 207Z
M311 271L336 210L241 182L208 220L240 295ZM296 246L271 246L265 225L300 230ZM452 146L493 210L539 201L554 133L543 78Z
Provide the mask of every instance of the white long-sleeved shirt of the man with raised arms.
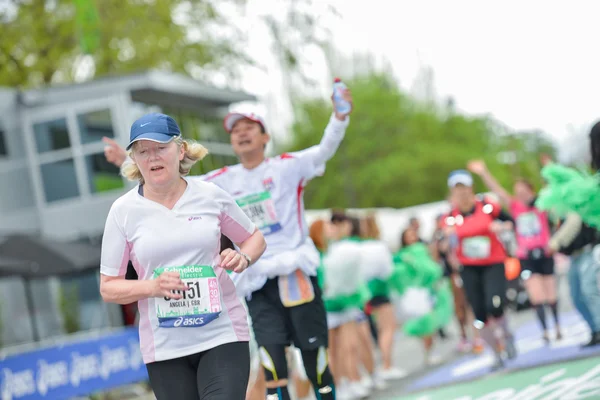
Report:
M213 182L232 195L265 236L267 249L261 258L242 274L233 274L234 280L246 281L243 291L238 291L240 295L259 290L273 275L287 275L298 268L316 275L319 254L308 238L303 191L309 180L324 173L325 163L335 154L349 122L349 117L339 121L332 115L321 143L268 158L254 169L237 164L189 177ZM295 254L289 254L291 251ZM284 252L287 262L280 263L280 257L275 256Z

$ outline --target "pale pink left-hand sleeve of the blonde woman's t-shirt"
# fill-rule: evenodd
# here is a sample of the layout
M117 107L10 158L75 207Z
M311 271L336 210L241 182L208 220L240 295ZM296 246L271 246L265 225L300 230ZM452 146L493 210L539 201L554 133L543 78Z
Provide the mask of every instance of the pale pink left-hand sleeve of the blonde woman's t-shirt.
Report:
M123 233L123 221L115 207L111 207L102 235L100 273L107 276L125 276L129 263L129 243Z

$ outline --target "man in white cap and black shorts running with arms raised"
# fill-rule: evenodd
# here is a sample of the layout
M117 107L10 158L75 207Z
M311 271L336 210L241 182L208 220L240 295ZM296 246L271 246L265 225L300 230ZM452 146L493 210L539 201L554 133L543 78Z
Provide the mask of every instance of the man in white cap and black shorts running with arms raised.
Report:
M352 104L349 91L344 98ZM223 125L241 163L189 178L213 182L232 195L267 241L263 256L234 281L248 299L269 400L290 399L285 348L292 342L302 351L317 399L335 399L327 365L327 318L316 279L319 254L308 238L303 191L323 174L344 138L350 113L332 114L320 144L272 158L265 156L270 136L263 120L230 113ZM125 151L111 139L104 141L107 160L121 166Z

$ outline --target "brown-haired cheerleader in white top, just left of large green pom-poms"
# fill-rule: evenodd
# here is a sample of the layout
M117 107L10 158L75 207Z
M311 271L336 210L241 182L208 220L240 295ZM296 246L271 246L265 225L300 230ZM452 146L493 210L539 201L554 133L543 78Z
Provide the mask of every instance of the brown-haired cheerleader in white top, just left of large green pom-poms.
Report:
M364 218L361 227L362 238L370 244L373 256L365 257L363 279L371 292L371 300L367 308L370 311L373 324L377 330L377 345L381 355L382 366L377 372L376 380L394 380L406 376L403 371L393 364L394 336L396 333L396 313L389 297L388 279L392 273L392 254L385 243L380 240L380 231L373 215ZM383 255L383 260L381 256ZM375 263L373 263L375 261ZM365 326L366 328L366 326Z

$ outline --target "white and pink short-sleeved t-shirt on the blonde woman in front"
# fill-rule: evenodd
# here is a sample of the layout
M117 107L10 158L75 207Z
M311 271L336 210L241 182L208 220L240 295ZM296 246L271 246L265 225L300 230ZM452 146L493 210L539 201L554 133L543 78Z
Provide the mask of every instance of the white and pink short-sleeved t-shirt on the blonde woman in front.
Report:
M186 180L188 186L171 210L135 187L113 203L106 219L102 274L125 276L131 260L140 280L174 268L191 287L181 300L138 301L145 363L250 340L246 310L219 267L219 242L221 233L243 242L255 225L216 185Z

